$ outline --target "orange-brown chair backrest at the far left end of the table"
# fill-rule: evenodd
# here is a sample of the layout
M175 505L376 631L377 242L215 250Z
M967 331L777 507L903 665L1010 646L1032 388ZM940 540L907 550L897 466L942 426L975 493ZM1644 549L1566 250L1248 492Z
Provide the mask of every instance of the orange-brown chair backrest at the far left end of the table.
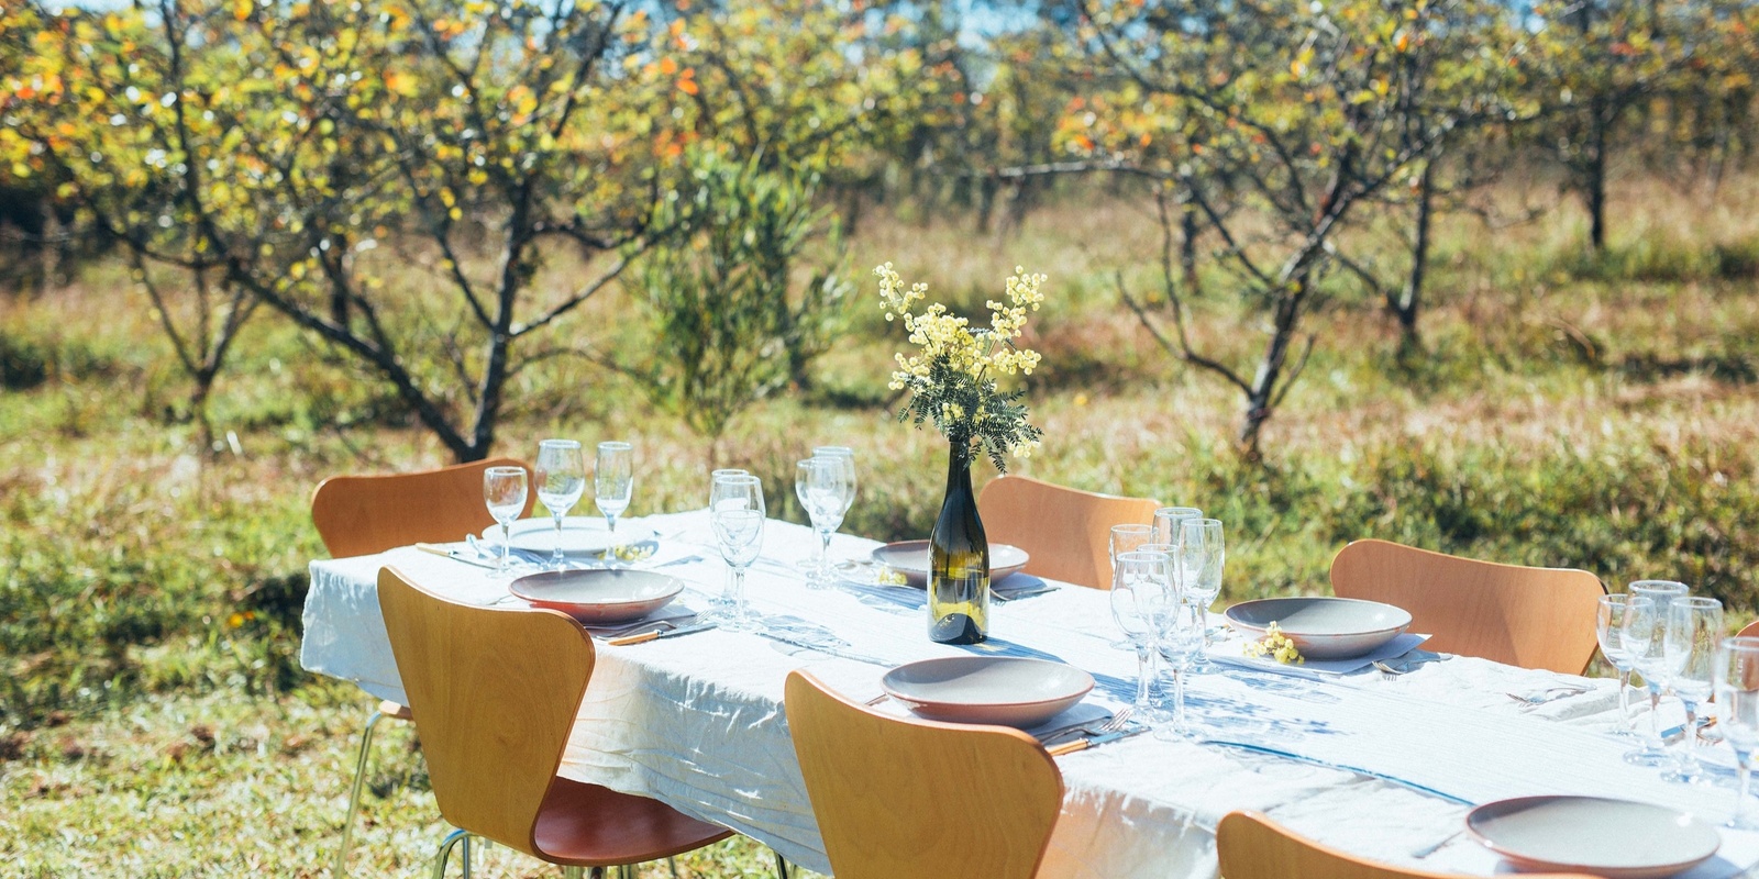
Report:
M496 466L526 464L498 457L420 473L331 476L311 494L311 524L338 559L420 541L464 540L494 524L482 503L482 471ZM531 513L535 496L526 492L521 517Z

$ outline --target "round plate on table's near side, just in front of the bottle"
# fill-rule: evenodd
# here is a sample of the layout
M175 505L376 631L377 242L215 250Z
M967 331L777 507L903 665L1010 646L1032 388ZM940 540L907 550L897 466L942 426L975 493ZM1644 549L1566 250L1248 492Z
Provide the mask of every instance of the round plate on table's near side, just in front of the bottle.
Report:
M1038 726L1082 701L1094 677L1048 659L945 656L906 663L880 680L887 694L931 721Z

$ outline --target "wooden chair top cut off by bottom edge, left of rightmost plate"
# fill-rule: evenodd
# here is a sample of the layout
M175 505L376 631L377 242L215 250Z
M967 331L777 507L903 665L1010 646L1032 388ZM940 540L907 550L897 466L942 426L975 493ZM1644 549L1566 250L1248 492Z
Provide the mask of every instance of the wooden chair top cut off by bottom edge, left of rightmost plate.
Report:
M1228 812L1215 828L1223 879L1458 879L1365 861L1296 837L1258 812ZM1590 879L1580 874L1527 874L1530 879Z

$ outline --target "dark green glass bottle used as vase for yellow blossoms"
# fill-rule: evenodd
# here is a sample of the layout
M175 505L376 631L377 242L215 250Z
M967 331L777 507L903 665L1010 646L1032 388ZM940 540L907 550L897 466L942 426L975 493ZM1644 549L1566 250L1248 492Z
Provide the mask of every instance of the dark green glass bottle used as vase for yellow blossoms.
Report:
M929 638L978 643L989 638L989 538L971 492L971 443L953 441L946 499L929 534Z

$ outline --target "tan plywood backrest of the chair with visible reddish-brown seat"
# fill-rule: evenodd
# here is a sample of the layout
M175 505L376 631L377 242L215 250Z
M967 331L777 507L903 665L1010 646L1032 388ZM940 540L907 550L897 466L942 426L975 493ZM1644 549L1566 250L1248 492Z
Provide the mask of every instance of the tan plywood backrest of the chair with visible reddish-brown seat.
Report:
M459 605L378 571L378 607L440 814L526 854L561 765L593 643L554 610Z

